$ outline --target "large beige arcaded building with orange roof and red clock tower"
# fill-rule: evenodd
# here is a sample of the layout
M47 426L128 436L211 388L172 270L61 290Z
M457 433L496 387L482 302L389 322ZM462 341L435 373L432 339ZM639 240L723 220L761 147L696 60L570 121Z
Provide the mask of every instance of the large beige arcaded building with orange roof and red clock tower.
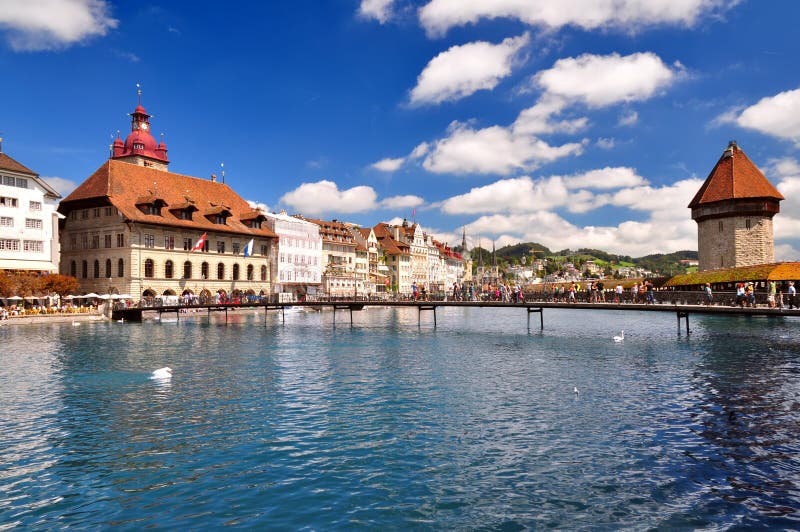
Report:
M59 205L61 273L83 292L134 297L267 295L277 235L216 176L168 170L139 105L131 133Z

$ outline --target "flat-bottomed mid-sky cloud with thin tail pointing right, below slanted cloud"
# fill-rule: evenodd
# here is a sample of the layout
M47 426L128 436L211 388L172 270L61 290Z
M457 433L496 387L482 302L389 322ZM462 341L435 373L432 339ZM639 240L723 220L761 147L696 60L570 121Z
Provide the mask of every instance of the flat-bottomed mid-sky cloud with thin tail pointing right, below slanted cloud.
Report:
M582 149L583 143L551 146L537 137L517 135L500 126L473 129L454 122L449 136L434 143L423 167L434 173L508 175L580 154Z

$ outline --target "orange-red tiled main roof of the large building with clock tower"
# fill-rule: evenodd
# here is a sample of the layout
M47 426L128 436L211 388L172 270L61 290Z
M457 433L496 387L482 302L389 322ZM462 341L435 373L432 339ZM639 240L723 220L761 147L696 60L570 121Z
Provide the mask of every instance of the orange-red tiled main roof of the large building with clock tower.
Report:
M157 193L154 194L153 189L157 190ZM203 214L227 209L231 216L227 218L225 225L215 224L201 213L195 213L192 220L182 220L176 216L177 210L164 208L159 216L145 214L136 206L137 201L143 197L157 196L167 205L178 207L186 204L186 196L189 193L194 200L194 206L200 211L205 211ZM133 222L186 227L198 231L277 237L267 228L253 229L242 222L242 216L251 213L252 207L224 183L114 159L103 163L94 174L72 191L61 202L58 211L66 215L92 200L107 200L125 218Z

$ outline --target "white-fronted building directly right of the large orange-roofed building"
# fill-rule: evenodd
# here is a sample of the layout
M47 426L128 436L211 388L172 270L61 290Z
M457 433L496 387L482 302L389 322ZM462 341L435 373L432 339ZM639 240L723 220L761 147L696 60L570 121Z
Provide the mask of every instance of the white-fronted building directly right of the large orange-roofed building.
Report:
M289 216L264 213L266 226L278 235L274 291L291 298L315 295L322 286L322 237L319 225Z

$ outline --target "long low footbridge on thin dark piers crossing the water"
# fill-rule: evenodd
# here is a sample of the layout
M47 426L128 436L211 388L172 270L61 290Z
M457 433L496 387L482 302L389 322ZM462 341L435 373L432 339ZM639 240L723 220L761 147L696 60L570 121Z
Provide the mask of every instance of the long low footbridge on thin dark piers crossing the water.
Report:
M439 307L461 308L518 308L525 309L528 316L528 328L531 325L531 314L539 314L539 324L544 329L544 309L571 309L571 310L620 310L626 312L672 312L678 318L678 327L681 320L686 322L686 333L689 333L690 314L711 314L716 316L791 316L800 317L800 309L769 308L769 307L739 307L729 305L698 305L685 303L565 303L555 301L524 301L519 303L501 301L378 301L378 300L341 300L341 301L308 301L301 303L210 303L199 305L165 305L131 307L114 310L112 318L124 321L142 321L144 312L157 312L159 318L164 313L175 313L180 320L183 311L205 310L209 318L212 312L224 312L225 321L228 320L228 311L242 309L264 309L264 321L270 310L280 311L283 322L286 322L287 308L308 308L314 310L333 310L333 323L336 324L337 311L349 311L350 324L353 323L353 312L363 310L364 307L411 307L417 309L418 323L422 321L423 312L433 313L433 325L436 326L436 309Z

